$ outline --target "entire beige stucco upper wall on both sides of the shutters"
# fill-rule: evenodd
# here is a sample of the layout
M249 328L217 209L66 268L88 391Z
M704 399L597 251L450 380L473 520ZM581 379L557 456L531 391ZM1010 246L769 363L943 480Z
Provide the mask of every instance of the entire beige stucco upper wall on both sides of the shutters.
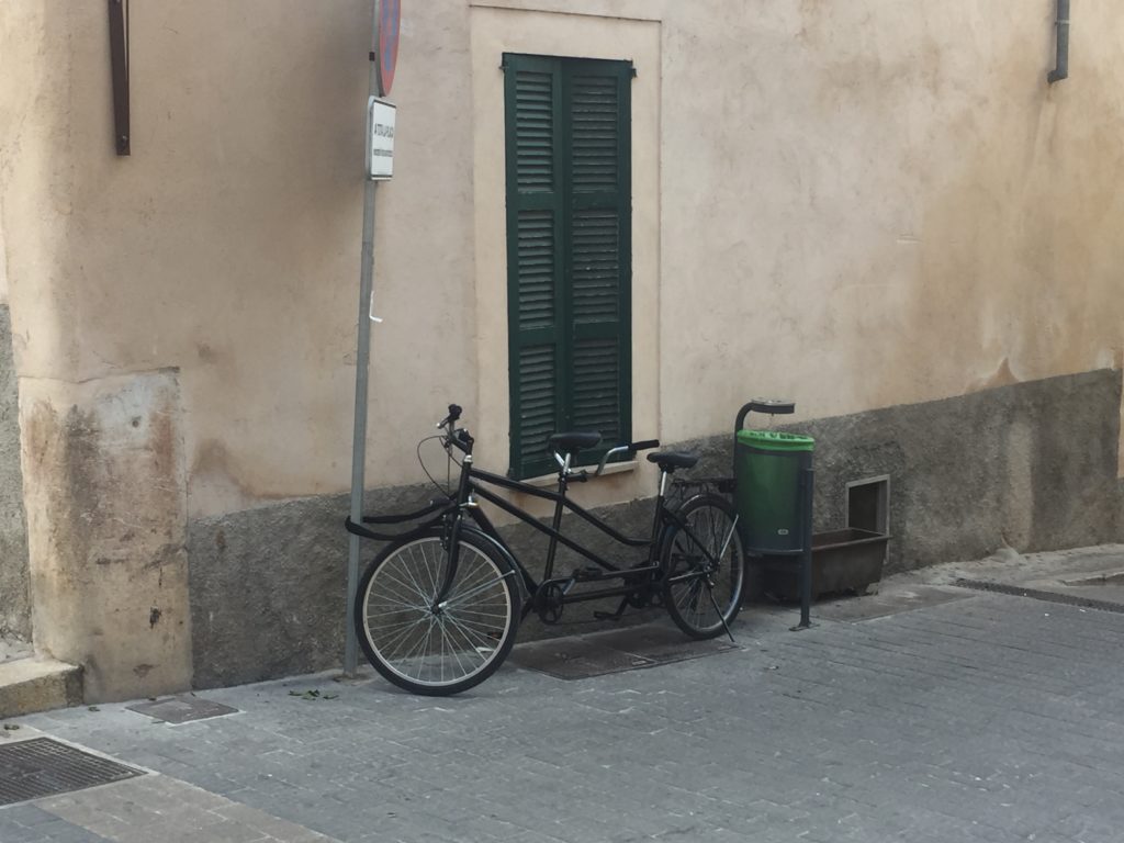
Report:
M719 432L756 393L823 416L1120 365L1108 2L1076 10L1054 88L1050 2L749 6L406 4L373 486L417 478L450 400L504 468L504 49L637 63L637 435ZM105 9L0 17L20 373L178 368L193 516L342 491L370 2L135 7L128 158Z

